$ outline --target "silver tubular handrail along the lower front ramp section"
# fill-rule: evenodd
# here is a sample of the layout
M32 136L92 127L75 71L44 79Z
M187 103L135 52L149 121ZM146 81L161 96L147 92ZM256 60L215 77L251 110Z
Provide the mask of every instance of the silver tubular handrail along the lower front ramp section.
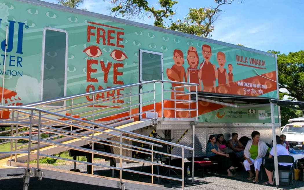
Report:
M25 114L24 111L21 111L21 110L18 110L18 106L15 107L15 110L14 112L21 112L22 114ZM38 111L39 112L39 115L37 116L36 114L33 114L33 111ZM46 110L43 110L43 109L32 109L30 110L31 112L28 112L26 114L30 114L31 115L31 123L33 122L33 118L35 117L38 117L39 121L41 121L41 113L46 113L48 115L55 115L55 116L60 116L61 118L67 118L67 119L71 119L75 122L81 122L81 123L87 123L87 124L94 124L92 122L88 122L88 121L84 121L84 120L81 120L81 119L77 119L77 118L71 118L71 117L68 117L68 116L64 116L64 115L60 115L58 113L53 113L53 112L49 112L49 111L46 111ZM43 117L43 119L47 119L45 116ZM18 120L18 119L17 119ZM50 119L52 121L56 121L56 119ZM57 120L58 123L62 123L64 121L60 121L60 120ZM70 124L70 123L69 123ZM24 125L24 124L22 124ZM78 125L78 124L74 124L72 123L73 126L79 126L79 127L82 127L82 128L85 128L87 130L91 130L93 133L96 133L96 132L103 132L102 130L97 130L97 129L93 129L93 128L88 128L88 127L85 127L85 126L81 126L81 125ZM108 127L108 126L104 126L104 125L99 125L99 124L96 124L95 123L95 126L99 126L99 127L103 127L105 129L111 129L111 130L116 130L116 131L119 131L121 134L119 135L120 136L120 139L124 138L123 136L123 133L124 134L129 134L131 136L134 136L134 137L142 137L142 138L146 138L148 140L151 140L152 142L158 142L158 143L165 143L165 144L169 144L169 145L174 145L176 147L182 147L182 150L185 149L188 149L188 150L193 150L191 147L185 147L183 145L178 145L178 144L175 144L175 143L171 143L171 142L168 142L168 141L164 141L164 140L160 140L160 139L155 139L155 138L152 138L152 137L147 137L147 136L144 136L144 135L140 135L140 134L136 134L136 133L132 133L132 132L128 132L128 131L124 131L124 130L119 130L119 129L115 129L115 128L112 128L112 127ZM40 125L38 126L38 136L40 137ZM29 126L30 128L30 133L32 130L36 130L37 128L32 126L30 124ZM65 130L59 130L59 131L64 131L64 132L67 132ZM110 133L108 133L110 134ZM82 136L81 134L78 134L79 136ZM115 134L114 134L115 135ZM115 135L116 136L116 135ZM71 136L71 137L74 137L75 136ZM88 136L86 136L88 137ZM101 140L100 138L98 137L93 137L93 136L89 136L91 138L90 141L92 141L92 138L94 138L96 141L97 140ZM8 137L6 137L8 138ZM12 139L17 139L17 137L15 136L12 136L11 137ZM143 152L145 154L150 154L150 155L153 155L153 154L164 154L164 155L167 155L167 156L175 156L175 157L179 157L179 156L176 156L176 155L173 155L173 154L168 154L168 153L162 153L162 152L159 152L159 151L156 151L153 149L154 146L158 146L158 147L161 147L161 145L159 144L156 144L156 143L152 143L152 142L146 142L146 141L143 141L143 140L139 140L139 139L134 139L132 137L126 137L127 139L129 140L136 140L136 141L139 141L141 143L146 143L146 144L150 144L152 146L151 150L150 149L145 149L145 148L142 148L144 151L146 152ZM39 168L39 157L41 156L45 156L45 157L51 157L51 158L57 158L57 159L63 159L63 160L69 160L69 159L65 159L65 158L60 158L60 157L55 157L55 156L51 156L51 155L47 155L47 154L40 154L39 150L39 146L41 143L43 144L48 144L48 145L53 145L53 146L57 146L57 147L64 147L64 148L67 148L67 149L74 149L74 150L81 150L81 151L85 151L85 152L88 152L88 153L91 153L91 154L99 154L99 155L103 155L103 156L108 156L108 157L113 157L113 158L119 158L120 159L120 163L122 160L126 160L126 161L131 161L131 162L137 162L137 163L142 163L142 164L148 164L148 165L158 165L158 166L165 166L165 167L168 167L168 168L172 168L172 169L180 169L182 170L182 172L184 171L184 168L183 167L174 167L174 166L168 166L168 165L163 165L163 164L160 164L160 163L155 163L153 162L153 159L152 161L144 161L144 160L139 160L139 159L136 159L136 158L133 158L133 157L126 157L126 156L123 156L122 154L112 154L112 153L105 153L105 152L101 152L101 151L98 151L98 150L89 150L89 149L86 149L86 148L81 148L81 147L75 147L73 145L68 145L68 144L62 144L62 143L56 143L56 142L50 142L50 141L47 141L47 140L40 140L40 138L38 138L38 141L36 140L32 140L31 139L31 136L28 137L28 140L29 140L29 147L28 147L28 151L9 151L9 152L6 152L6 154L21 154L21 153L27 153L28 154L28 158L27 158L27 163L28 163L28 168L29 168L29 160L30 160L30 154L36 154L37 155L37 168ZM89 139L85 139L85 140L89 140ZM38 148L37 148L37 152L31 152L30 150L30 145L31 143L38 143ZM123 148L127 148L128 144L125 144L125 143L122 143L122 140L120 140L120 151L123 149ZM148 152L149 151L149 152ZM3 153L1 153L3 154ZM184 158L183 156L181 158ZM15 157L16 159L16 157ZM16 160L15 160L16 161ZM75 161L75 162L81 162L81 161ZM83 162L85 163L85 162ZM90 163L90 165L94 165L94 166L102 166L100 164L94 164L94 163ZM136 172L138 173L137 171L132 171L132 170L129 170L129 169L124 169L122 167L120 168L113 168L113 167L109 167L109 166L102 166L102 167L106 167L106 168L111 168L111 169L116 169L116 170L119 170L120 173L122 171L129 171L129 172ZM150 175L152 178L153 177L161 177L161 178L168 178L168 179L171 179L171 180L178 180L178 181L182 181L184 183L184 178L173 178L173 177L168 177L168 176L163 176L163 175L158 175L158 174L150 174L150 173L146 173L146 172L140 172L141 174L145 174L145 175ZM120 175L120 179L122 179L122 175Z

